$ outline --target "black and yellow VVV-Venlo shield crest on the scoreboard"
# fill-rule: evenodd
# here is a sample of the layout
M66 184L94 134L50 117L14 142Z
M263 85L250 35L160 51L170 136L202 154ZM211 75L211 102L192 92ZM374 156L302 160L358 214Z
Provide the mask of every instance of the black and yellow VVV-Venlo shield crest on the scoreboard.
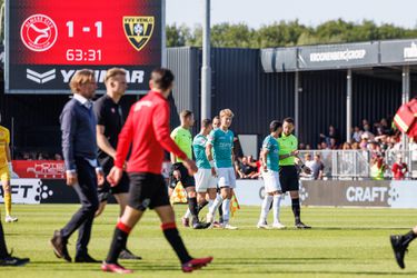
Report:
M152 37L153 17L123 17L125 34L130 44L140 51Z

